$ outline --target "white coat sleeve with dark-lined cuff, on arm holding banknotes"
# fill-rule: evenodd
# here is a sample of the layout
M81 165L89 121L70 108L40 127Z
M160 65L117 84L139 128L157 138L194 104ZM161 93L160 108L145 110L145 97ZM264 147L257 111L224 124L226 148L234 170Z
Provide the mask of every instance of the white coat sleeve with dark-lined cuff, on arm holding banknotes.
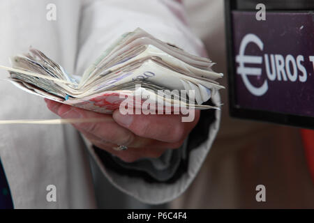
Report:
M82 74L122 33L137 27L191 54L206 55L202 42L188 29L184 7L179 1L86 1L82 8L77 73ZM211 103L220 104L218 94ZM89 141L87 144L103 174L113 185L145 203L163 203L186 190L216 137L220 111L202 112L201 119L182 148L168 151L160 159L126 164L117 157L110 158L110 154L101 155ZM126 173L123 173L124 169ZM136 174L131 174L132 171Z

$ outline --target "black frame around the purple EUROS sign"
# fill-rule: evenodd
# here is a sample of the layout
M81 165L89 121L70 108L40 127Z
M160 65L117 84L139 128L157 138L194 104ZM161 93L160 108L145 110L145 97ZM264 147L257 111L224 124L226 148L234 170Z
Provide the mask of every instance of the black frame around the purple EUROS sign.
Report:
M255 11L258 3L264 3L266 10L272 12L278 11L294 11L294 12L311 12L314 10L314 2L311 0L225 0L225 33L227 46L227 72L228 72L228 88L229 88L229 112L234 118L249 119L254 121L263 121L269 123L277 123L281 125L290 125L299 128L314 129L314 117L300 116L295 114L283 114L280 112L270 112L257 109L247 109L239 107L236 104L236 68L235 55L233 52L233 27L232 27L232 10ZM313 10L311 10L313 9ZM314 22L314 13L313 13ZM314 84L313 84L314 87ZM314 103L314 102L313 102Z

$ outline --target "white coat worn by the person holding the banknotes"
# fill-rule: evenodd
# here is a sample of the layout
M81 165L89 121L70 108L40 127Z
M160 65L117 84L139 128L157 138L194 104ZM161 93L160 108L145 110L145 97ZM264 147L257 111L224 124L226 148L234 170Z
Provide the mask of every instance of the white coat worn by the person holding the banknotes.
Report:
M47 20L50 3L56 6L57 20ZM27 52L32 46L69 73L82 75L121 33L137 27L192 54L204 55L202 43L186 25L179 1L1 0L0 15L0 64L5 66L10 65L9 56ZM0 70L0 75L8 74ZM2 120L57 118L42 98L9 82L1 80L0 93ZM220 103L219 95L213 101ZM188 170L171 184L147 183L105 169L71 125L0 125L0 156L14 206L95 208L86 147L103 174L120 190L146 203L170 201L186 190L200 169L218 131L220 112L215 116L207 141L189 154ZM47 185L56 186L57 202L47 201Z

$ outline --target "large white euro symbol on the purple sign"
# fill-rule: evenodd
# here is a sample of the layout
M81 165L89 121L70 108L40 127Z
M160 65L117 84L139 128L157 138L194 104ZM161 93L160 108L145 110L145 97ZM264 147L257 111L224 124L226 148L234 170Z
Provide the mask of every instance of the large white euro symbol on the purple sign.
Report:
M236 57L236 61L237 63L239 63L239 67L237 68L237 73L238 75L241 75L244 85L246 86L246 89L248 89L248 91L250 91L255 96L262 96L268 90L267 80L265 80L262 86L258 88L253 86L251 82L248 80L248 75L255 75L255 76L262 75L262 68L246 68L244 66L244 63L261 64L263 60L262 56L246 56L244 54L246 50L246 46L249 43L255 43L260 48L260 50L263 50L264 48L262 40L260 40L258 36L251 33L244 36L244 38L241 41L239 55L237 55Z

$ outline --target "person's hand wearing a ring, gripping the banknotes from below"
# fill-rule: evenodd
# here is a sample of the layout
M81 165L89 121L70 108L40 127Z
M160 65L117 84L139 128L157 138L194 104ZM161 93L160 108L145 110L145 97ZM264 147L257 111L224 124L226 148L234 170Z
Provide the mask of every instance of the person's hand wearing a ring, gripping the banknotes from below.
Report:
M47 107L61 118L104 118L98 123L73 123L73 126L98 148L117 155L124 162L144 157L160 157L167 149L179 148L200 118L195 110L192 122L184 123L181 115L122 115L119 109L111 115L87 111L45 99ZM117 145L128 146L115 151Z

